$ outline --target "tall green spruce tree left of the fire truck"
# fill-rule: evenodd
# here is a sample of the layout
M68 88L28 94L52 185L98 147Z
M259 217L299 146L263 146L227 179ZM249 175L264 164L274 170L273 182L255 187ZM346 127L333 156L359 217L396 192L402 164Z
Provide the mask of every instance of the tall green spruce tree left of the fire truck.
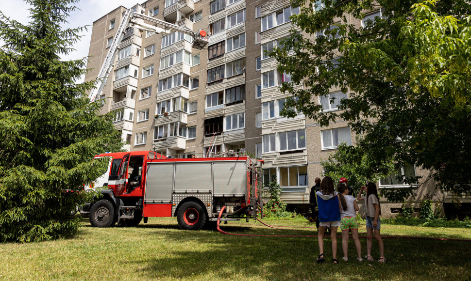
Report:
M119 142L111 116L76 84L86 59L61 61L83 28L62 29L76 0L27 0L29 25L0 12L0 241L41 241L76 233L71 192L106 170L93 156Z

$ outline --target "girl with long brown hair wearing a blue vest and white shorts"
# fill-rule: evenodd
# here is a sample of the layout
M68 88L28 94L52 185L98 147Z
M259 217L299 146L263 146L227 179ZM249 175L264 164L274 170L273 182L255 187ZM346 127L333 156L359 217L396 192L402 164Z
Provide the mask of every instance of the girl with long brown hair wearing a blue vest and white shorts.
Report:
M338 193L335 191L334 182L331 177L324 177L320 182L320 190L316 192L319 206L319 258L316 263L322 263L324 259L324 232L330 227L330 238L332 240L332 263L338 264L337 260L337 227L340 226L340 202Z

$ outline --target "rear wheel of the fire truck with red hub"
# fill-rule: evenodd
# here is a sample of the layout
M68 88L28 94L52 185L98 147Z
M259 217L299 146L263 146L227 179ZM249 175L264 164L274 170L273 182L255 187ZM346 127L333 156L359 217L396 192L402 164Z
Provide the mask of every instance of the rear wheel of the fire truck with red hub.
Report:
M200 230L206 223L206 212L196 202L186 202L180 206L177 213L177 221L182 229Z

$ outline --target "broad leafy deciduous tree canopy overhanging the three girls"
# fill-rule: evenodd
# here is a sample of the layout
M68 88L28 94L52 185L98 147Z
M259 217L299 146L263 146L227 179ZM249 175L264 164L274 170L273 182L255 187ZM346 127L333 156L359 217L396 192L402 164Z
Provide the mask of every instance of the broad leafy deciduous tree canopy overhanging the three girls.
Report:
M280 72L292 75L292 82L283 83L281 90L299 98L289 99L286 108L295 107L321 126L348 122L362 136L356 152L368 153L374 162L415 164L431 170L446 190L469 190L465 184L471 178L470 2L291 4L303 6L291 17L296 27L283 40L283 48L270 54ZM379 12L380 7L381 16L366 14ZM348 98L340 101L340 110L322 112L314 100L328 98L333 90Z

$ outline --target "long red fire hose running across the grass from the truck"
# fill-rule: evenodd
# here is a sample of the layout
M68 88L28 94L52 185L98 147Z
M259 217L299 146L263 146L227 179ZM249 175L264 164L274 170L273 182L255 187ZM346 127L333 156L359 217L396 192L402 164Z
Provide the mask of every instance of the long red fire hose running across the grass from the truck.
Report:
M220 233L222 234L227 234L227 235L236 235L236 236L261 236L261 237L318 237L318 235L271 235L271 234L241 234L241 233L229 233L221 230L219 228L219 223L221 220L222 213L224 212L224 209L226 207L222 206L221 210L219 211L219 216L218 216L218 221L217 221L217 229ZM283 229L283 228L314 228L314 227L309 227L309 226L273 226L264 223L260 219L256 219L263 225L268 226L269 228L275 228L275 229ZM337 235L337 237L342 237L341 235ZM365 235L359 235L358 237L360 238L367 238ZM415 236L381 236L381 238L387 238L387 239L422 239L422 240L442 240L442 241L461 241L461 242L471 242L471 239L458 239L458 238L438 238L438 237L415 237Z

